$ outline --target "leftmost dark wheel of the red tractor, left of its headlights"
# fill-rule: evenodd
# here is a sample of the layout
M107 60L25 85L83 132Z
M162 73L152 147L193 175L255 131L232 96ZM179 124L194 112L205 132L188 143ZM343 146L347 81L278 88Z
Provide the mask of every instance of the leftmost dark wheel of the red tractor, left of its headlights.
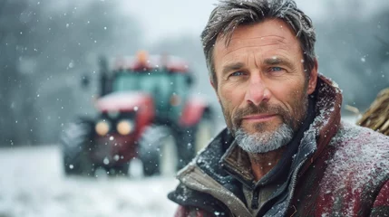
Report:
M60 141L63 147L63 169L65 175L94 176L94 165L89 152L92 123L79 119L63 130Z

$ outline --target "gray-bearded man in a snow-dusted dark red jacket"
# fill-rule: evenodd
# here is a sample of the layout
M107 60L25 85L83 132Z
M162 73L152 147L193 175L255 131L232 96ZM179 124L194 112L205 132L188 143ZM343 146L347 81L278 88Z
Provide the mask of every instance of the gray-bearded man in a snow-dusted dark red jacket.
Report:
M387 216L389 138L340 121L292 0L225 0L201 35L227 128L178 175L181 216Z

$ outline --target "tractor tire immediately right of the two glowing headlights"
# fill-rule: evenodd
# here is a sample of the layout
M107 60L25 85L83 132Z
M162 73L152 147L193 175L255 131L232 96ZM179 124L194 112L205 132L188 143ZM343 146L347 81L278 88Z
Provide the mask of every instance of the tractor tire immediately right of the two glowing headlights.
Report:
M166 127L162 126L147 127L141 135L138 152L144 176L160 175L160 148L167 135Z

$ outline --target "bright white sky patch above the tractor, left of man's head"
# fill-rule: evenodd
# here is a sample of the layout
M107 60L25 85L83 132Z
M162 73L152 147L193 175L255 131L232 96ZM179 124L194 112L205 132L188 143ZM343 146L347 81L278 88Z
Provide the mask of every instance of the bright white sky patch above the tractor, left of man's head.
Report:
M302 0L307 2L306 0ZM128 10L141 23L147 40L174 35L199 35L208 21L217 0L130 0L125 1Z

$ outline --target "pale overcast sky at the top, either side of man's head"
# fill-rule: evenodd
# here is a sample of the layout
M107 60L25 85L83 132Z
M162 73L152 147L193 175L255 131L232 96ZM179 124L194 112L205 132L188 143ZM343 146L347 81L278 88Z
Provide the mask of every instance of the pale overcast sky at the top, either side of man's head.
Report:
M328 0L297 0L297 6L308 14L315 22L316 19L331 15L332 10L325 10ZM146 40L156 42L160 38L178 36L182 33L199 35L207 23L209 14L217 0L124 0L123 10L129 11L141 23ZM336 1L333 10L347 12L347 5L355 1ZM362 1L364 16L374 12L376 8L388 6L387 0ZM366 13L367 12L367 13ZM350 12L347 12L350 13ZM353 13L353 12L351 12Z

